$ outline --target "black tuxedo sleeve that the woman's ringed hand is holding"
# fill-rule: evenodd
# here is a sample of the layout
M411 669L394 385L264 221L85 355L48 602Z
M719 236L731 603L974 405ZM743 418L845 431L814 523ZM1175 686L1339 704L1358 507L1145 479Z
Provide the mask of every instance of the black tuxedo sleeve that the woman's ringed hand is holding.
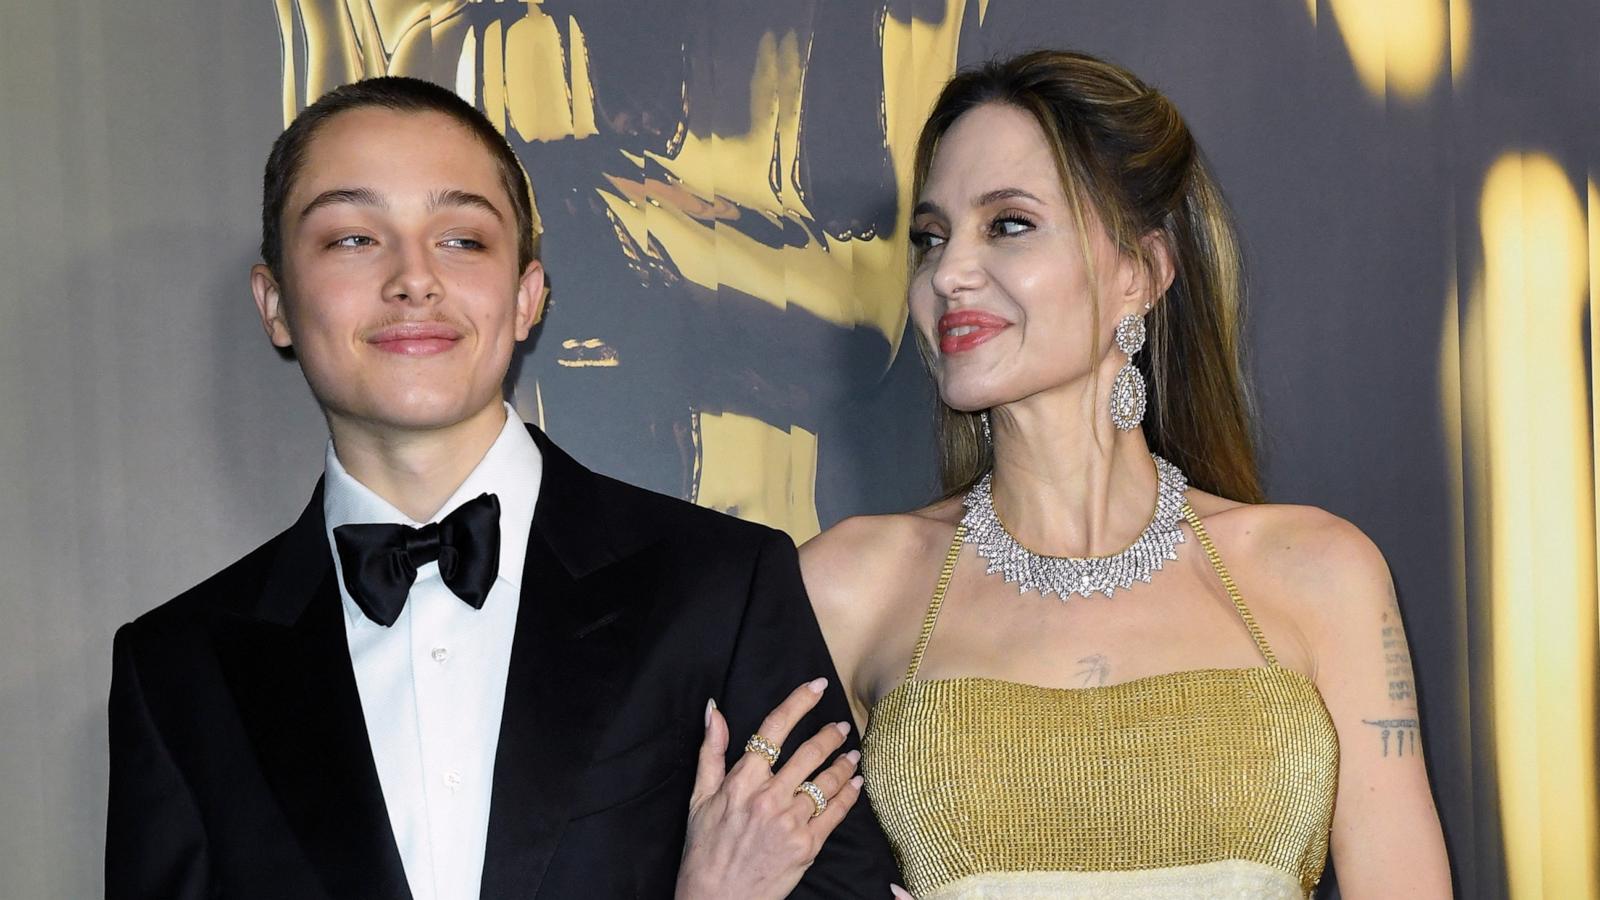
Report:
M829 722L851 722L851 714L806 599L794 543L773 532L757 557L723 695L717 698L728 717L728 764L733 765L744 754L746 738L795 685L818 676L827 677L827 690L816 708L790 730L784 759ZM838 751L861 749L858 738L851 727ZM890 882L898 879L888 841L862 798L829 836L792 897L878 900L888 897Z

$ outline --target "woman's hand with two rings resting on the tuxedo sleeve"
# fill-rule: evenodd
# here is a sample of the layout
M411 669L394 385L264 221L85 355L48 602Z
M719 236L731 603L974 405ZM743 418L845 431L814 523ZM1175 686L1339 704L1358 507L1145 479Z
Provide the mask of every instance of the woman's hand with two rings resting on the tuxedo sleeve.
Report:
M802 716L816 706L827 679L802 684L762 721L762 738L782 746ZM773 770L760 753L746 753L725 770L728 722L706 705L706 740L690 798L688 838L678 868L680 900L787 897L861 796L854 775L861 754L846 753L813 777L850 733L848 722L824 725ZM853 777L854 775L854 777ZM803 793L816 785L826 807Z

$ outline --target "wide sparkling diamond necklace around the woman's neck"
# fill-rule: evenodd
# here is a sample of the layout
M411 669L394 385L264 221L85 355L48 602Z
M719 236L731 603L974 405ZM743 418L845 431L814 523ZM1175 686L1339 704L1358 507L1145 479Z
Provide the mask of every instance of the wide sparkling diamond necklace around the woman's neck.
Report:
M1139 538L1118 554L1042 556L1024 548L995 514L992 471L984 474L962 500L962 506L966 508L966 514L962 516L966 543L978 544L978 556L989 560L989 575L1002 573L1008 583L1018 586L1019 594L1038 591L1042 597L1056 594L1066 601L1067 594L1088 597L1098 591L1110 597L1117 588L1131 588L1136 578L1149 585L1163 562L1178 559L1178 544L1184 543L1184 532L1178 522L1187 506L1184 492L1189 488L1178 466L1155 453L1150 453L1150 458L1155 460L1155 476L1160 479L1155 514Z

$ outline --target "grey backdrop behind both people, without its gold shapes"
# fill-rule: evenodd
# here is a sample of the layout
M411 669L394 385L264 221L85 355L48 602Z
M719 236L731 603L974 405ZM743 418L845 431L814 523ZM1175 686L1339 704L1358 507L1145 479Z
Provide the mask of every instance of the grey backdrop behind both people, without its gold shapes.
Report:
M901 19L941 14L894 6ZM602 104L650 107L624 94L648 93L653 77L677 91L678 69L645 67L680 66L685 45L674 38L666 62L630 56L629 29L643 27L634 5L546 8L582 21ZM650 21L798 29L802 46L813 29L821 72L821 54L848 45L848 22L880 6L640 8ZM958 59L1078 48L1126 64L1186 112L1248 250L1269 495L1328 508L1387 554L1459 894L1501 897L1490 738L1475 724L1488 636L1462 588L1440 346L1456 272L1477 253L1488 165L1536 149L1581 186L1600 163L1600 6L1472 2L1470 40L1454 48L1470 53L1466 72L1453 83L1446 67L1406 99L1374 98L1328 3L1315 13L1304 0L974 0ZM603 37L608 27L619 37ZM736 54L693 58L698 45L686 46L685 67L710 83L718 70L749 78ZM837 51L838 67L850 53ZM262 338L246 283L261 165L283 122L280 78L266 0L6 0L0 16L0 895L99 894L112 631L290 524L320 474L323 423L298 370ZM717 90L730 115L747 99L731 78ZM870 99L877 88L862 90ZM806 122L802 146L813 211L826 219L832 205L840 221L904 229L882 155L851 151L874 110L813 106L824 117ZM602 120L598 139L613 127ZM698 444L682 432L733 410L819 436L822 527L928 498L931 407L909 341L890 364L885 336L800 312L763 315L725 296L635 303L678 288L634 279L616 242L595 240L603 219L574 200L594 176L563 144L520 149L555 303L522 365L518 405L534 405L523 389L536 381L558 442L598 469L693 495L685 453ZM850 207L872 191L890 191L872 200L877 211ZM710 349L691 335L715 327L728 330ZM659 340L642 346L651 331ZM590 333L622 354L616 378L558 365L574 359L560 341ZM781 365L773 348L787 354ZM774 391L803 402L771 402Z

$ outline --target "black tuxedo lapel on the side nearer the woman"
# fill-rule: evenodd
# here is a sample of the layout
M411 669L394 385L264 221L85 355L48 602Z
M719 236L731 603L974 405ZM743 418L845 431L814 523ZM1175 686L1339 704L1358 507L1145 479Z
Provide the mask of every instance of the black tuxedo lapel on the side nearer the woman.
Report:
M595 476L530 431L544 474L506 677L482 900L538 895L576 775L632 674L626 629L614 626L632 612L637 564L650 556L605 527Z

